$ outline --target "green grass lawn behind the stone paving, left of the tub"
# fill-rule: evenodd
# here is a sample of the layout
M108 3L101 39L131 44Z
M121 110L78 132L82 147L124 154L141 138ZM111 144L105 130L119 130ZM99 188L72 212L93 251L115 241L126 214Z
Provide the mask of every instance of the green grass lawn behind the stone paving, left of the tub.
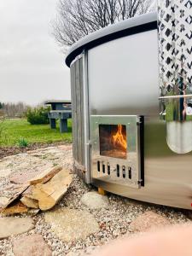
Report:
M30 125L26 119L6 119L3 121L3 134L0 146L17 146L20 138L27 143L72 142L72 120L68 119L68 132L60 133L59 122L57 128L51 130L49 125Z

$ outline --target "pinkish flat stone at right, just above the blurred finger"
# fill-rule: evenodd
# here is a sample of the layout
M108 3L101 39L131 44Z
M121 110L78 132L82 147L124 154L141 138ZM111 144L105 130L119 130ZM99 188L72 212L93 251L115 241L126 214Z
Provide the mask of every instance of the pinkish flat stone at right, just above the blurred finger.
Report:
M148 211L135 218L131 222L130 228L134 232L145 232L148 230L156 230L168 224L170 224L170 222L167 218L155 212Z

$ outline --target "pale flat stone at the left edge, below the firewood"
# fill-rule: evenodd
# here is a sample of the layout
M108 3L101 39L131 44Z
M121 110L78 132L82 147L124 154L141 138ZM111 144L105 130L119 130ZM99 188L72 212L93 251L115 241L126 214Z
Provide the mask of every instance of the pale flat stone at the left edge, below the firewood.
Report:
M0 218L0 239L25 233L33 228L32 218Z

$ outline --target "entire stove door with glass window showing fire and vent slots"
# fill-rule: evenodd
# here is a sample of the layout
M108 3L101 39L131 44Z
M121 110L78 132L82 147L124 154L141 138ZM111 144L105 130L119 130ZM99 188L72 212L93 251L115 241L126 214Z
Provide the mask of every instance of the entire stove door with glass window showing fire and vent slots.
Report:
M98 116L91 120L92 179L139 189L143 184L140 116Z

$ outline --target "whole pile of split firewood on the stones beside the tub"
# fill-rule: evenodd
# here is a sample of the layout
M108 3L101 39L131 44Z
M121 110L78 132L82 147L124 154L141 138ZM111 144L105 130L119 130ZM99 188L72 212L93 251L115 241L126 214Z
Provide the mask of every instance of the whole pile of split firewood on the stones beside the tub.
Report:
M73 174L62 167L50 168L23 184L20 191L2 208L3 215L47 211L61 200L72 183Z

